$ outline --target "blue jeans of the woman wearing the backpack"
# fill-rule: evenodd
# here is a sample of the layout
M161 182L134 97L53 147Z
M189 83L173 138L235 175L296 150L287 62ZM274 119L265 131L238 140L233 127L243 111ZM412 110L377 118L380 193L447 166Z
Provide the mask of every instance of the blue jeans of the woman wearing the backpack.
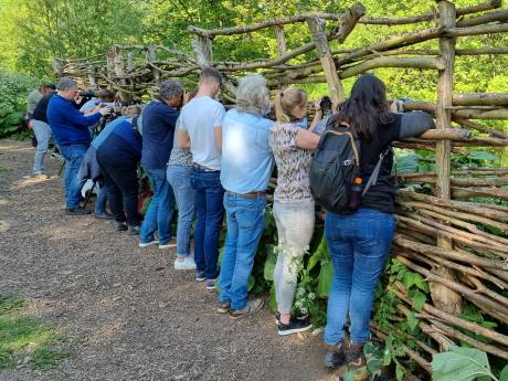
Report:
M360 208L354 214L326 213L325 232L334 263L328 296L325 342L342 341L349 313L353 343L370 340L370 316L375 285L392 244L393 214Z

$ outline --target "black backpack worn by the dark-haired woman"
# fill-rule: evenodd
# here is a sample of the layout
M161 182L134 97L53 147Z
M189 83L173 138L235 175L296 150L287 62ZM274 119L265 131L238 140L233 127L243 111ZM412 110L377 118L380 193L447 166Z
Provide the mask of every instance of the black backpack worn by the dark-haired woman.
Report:
M361 195L366 194L371 184L375 186L381 162L389 150L381 152ZM328 126L319 139L310 165L309 181L314 200L327 211L352 213L348 209L348 201L356 177L360 177L360 141L354 140L346 123Z

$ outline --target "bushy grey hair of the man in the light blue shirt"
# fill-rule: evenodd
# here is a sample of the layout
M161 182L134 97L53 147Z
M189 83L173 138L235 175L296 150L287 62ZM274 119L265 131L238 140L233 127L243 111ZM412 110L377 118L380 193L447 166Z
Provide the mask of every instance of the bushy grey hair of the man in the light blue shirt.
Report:
M269 110L269 91L262 75L253 74L240 80L236 88L236 108L244 113L260 115Z

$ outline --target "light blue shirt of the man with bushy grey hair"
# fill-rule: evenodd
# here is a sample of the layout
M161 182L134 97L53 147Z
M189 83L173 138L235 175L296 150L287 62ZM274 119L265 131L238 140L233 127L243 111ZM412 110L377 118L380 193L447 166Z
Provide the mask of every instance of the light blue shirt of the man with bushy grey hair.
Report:
M236 193L265 191L274 168L272 120L231 109L222 125L221 183Z

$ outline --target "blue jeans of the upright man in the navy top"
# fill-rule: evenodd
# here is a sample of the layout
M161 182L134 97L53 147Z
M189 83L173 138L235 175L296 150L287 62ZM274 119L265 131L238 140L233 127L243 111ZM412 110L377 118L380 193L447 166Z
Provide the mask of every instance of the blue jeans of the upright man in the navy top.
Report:
M141 224L140 242L154 241L154 233L159 231L159 244L171 241L171 219L174 209L174 194L166 180L166 168L147 169L154 197Z

